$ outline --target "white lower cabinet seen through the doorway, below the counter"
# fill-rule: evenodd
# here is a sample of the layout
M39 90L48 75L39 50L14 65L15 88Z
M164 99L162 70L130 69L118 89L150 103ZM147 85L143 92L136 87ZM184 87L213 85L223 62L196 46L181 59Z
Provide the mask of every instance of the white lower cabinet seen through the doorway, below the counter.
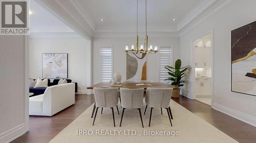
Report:
M197 97L210 97L211 79L210 77L196 77L195 94Z

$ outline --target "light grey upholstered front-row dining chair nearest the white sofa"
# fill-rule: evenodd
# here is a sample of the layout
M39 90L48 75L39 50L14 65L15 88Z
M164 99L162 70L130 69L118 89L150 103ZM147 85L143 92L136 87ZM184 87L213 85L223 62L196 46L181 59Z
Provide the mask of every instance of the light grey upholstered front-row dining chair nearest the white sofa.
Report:
M111 108L112 109L112 115L113 115L113 121L114 121L114 127L115 124L115 116L114 116L114 108L118 104L118 97L119 97L119 90L118 88L94 88L94 99L95 99L95 107L96 112L93 120L93 125L97 116L98 108ZM118 108L117 108L118 110Z

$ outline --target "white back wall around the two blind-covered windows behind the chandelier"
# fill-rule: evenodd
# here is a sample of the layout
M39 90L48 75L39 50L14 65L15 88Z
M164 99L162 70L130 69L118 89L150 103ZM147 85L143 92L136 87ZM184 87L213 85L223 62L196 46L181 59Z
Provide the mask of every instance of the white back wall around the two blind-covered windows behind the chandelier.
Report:
M180 58L179 37L148 37L148 44L173 46L174 61ZM99 83L99 47L113 46L113 74L119 72L122 80L126 80L125 45L135 45L135 37L93 38L93 84ZM131 48L131 46L130 46ZM159 81L159 52L147 54L147 80Z

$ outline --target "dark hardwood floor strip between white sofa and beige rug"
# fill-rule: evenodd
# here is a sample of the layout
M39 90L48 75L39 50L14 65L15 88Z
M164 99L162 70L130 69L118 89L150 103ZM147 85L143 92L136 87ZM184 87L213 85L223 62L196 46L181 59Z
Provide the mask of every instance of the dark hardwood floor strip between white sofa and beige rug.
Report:
M14 143L46 143L67 127L94 103L93 95L76 94L75 104L52 117L30 116L29 131L13 140Z

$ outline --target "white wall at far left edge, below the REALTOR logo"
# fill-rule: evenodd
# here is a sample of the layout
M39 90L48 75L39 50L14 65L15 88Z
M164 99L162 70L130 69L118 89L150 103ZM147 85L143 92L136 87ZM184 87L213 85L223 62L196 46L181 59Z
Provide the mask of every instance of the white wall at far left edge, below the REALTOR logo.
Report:
M0 43L0 142L7 142L27 131L25 36L0 36Z

